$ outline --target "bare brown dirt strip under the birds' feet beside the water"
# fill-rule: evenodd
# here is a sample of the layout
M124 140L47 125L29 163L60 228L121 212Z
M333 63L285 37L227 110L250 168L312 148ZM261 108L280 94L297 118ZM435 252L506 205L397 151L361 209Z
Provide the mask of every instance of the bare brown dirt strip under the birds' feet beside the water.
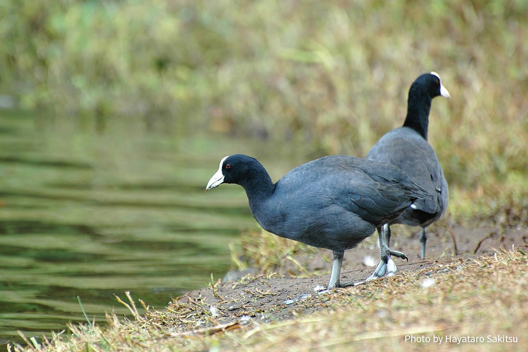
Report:
M395 229L401 229L397 226ZM408 233L409 230L407 230ZM400 233L401 235L398 235ZM494 249L511 249L512 245L524 252L528 251L528 227L480 227L466 229L461 226L436 226L428 232L427 258L419 258L419 232L413 235L392 232L391 249L407 254L409 261L394 258L401 271L418 271L431 268L435 271L456 268L457 263L470 261L481 255L493 255ZM373 235L375 237L376 235ZM374 264L379 261L379 250L370 243L345 252L341 281L361 281L367 278L375 267L366 266L366 256L371 256ZM455 249L456 248L456 249ZM332 258L329 251L323 252ZM309 270L331 270L332 264L324 261L322 255L312 258L296 258L307 265ZM446 265L441 265L444 263ZM372 264L372 263L371 263ZM451 270L451 269L449 269ZM396 274L398 275L398 273ZM318 285L328 284L329 274L320 277L292 278L289 275L248 275L241 281L215 282L214 290L210 286L191 291L171 302L164 313L157 312L151 318L160 324L170 324L174 333L196 331L223 324L259 325L263 322L293 318L301 313L327 306L332 300L332 291L320 294L314 291ZM390 280L384 278L381 280ZM366 283L365 285L369 285ZM347 290L348 288L336 289ZM162 323L163 322L163 323Z

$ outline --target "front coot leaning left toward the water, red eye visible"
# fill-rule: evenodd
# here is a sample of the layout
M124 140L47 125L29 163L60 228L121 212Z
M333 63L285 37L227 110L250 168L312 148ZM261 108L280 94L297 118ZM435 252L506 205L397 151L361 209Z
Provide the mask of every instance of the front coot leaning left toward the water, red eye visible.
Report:
M220 160L205 189L222 183L246 190L251 214L266 231L331 250L328 289L351 284L340 281L345 250L375 230L381 237L383 224L428 196L398 167L346 155L309 161L273 183L257 159L234 154Z

